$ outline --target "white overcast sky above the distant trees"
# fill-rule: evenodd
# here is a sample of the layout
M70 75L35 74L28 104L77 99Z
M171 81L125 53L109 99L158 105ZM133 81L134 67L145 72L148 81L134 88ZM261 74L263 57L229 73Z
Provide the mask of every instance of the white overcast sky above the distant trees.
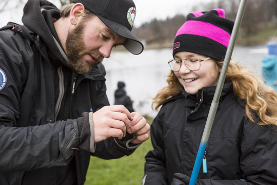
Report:
M2 0L0 0L2 1ZM27 2L27 0L23 0ZM136 6L135 26L140 26L142 23L149 22L153 18L164 20L166 17L173 17L176 14L188 14L192 6L201 6L204 3L216 2L217 0L133 0ZM23 15L24 4L16 3L17 0L9 0L5 6L5 11L0 14L0 27L5 26L9 21L22 24L21 17ZM61 8L59 0L49 0L58 8ZM161 3L163 2L163 3ZM13 8L15 6L18 8ZM0 4L0 9L2 5ZM203 10L204 11L204 10Z

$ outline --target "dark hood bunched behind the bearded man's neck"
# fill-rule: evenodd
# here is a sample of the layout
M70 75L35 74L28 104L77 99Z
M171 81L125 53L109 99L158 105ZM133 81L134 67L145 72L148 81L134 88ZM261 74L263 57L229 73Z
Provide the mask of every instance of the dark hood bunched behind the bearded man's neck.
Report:
M23 11L23 24L39 35L55 57L63 64L66 64L66 54L54 39L42 14L43 11L47 11L46 13L48 16L58 19L60 18L61 11L55 5L46 0L29 0Z

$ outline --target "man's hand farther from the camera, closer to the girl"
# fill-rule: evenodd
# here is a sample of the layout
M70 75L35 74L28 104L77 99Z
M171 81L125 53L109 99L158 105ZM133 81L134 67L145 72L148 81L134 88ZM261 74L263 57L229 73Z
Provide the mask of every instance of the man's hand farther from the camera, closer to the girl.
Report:
M135 133L135 140L131 141L133 144L140 144L149 139L150 125L146 123L146 119L136 112L132 112L133 120L130 121L130 131L128 133Z

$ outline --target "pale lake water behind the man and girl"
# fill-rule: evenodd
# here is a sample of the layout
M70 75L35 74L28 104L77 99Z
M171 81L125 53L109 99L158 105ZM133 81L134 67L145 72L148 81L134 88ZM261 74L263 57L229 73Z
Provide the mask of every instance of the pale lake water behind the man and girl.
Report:
M265 45L243 47L235 46L232 59L252 66L261 77L261 59L266 55ZM126 84L127 95L134 100L136 112L154 117L157 112L151 108L152 99L162 87L166 86L166 76L170 72L168 61L172 59L172 49L144 50L139 55L126 52L113 52L104 59L107 96L114 103L114 91L117 82Z

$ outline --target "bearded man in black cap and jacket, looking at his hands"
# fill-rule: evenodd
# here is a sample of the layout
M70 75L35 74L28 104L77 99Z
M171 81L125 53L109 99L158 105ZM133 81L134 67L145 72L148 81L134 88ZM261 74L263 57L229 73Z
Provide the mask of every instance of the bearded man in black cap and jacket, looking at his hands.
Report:
M101 64L117 45L143 51L134 3L73 3L29 0L24 26L0 31L1 184L84 184L90 155L120 158L149 138L141 114L107 106Z

